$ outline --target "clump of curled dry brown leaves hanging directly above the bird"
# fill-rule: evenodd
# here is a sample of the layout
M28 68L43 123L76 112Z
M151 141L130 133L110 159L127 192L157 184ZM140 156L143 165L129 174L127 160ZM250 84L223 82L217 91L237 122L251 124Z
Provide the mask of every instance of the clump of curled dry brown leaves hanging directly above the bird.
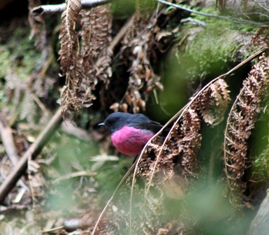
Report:
M115 111L126 112L129 107L133 113L145 111L145 102L152 90L163 88L159 83L160 77L154 73L150 64L155 53L154 35L159 31L154 16L156 7L156 2L152 0L136 1L132 27L126 31L120 49L120 57L129 67L129 85L122 101L110 106Z

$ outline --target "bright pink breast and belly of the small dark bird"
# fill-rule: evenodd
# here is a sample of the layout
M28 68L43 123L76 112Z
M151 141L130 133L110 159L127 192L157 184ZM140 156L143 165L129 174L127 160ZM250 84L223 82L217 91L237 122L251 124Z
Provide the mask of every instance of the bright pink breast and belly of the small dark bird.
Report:
M143 150L152 136L152 131L124 126L112 134L111 141L119 152L134 157Z

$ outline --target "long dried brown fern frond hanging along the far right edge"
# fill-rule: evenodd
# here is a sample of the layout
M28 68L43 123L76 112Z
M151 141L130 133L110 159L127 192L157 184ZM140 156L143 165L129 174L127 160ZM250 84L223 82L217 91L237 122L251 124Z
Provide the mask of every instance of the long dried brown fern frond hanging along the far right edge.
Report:
M241 196L246 187L242 176L247 168L247 139L254 128L256 115L261 111L260 104L268 90L268 80L268 57L263 55L244 80L240 94L228 115L224 138L224 163L231 204L238 209L242 208Z

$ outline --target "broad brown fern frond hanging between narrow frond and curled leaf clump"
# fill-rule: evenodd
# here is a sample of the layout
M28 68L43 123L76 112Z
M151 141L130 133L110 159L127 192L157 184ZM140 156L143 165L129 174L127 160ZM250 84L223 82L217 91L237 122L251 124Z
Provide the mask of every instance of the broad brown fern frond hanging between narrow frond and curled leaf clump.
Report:
M82 10L81 15L83 78L78 88L78 99L82 106L89 107L92 105L92 99L95 99L92 90L98 81L108 83L108 78L112 76L112 50L109 48L112 22L110 4Z

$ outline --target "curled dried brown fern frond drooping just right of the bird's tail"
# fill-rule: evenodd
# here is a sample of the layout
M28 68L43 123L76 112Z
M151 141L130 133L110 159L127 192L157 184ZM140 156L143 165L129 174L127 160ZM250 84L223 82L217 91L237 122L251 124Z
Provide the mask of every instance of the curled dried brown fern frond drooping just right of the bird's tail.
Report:
M163 171L164 175L170 178L173 176L173 160L179 157L180 153L184 175L197 176L196 157L201 146L201 117L212 125L220 122L230 99L227 87L221 79L203 87L203 90L185 106L163 144L160 144L160 136L154 137L148 143L138 164L138 169L143 171L140 173L141 176L148 178L152 176L152 172ZM158 157L154 158L152 155Z

